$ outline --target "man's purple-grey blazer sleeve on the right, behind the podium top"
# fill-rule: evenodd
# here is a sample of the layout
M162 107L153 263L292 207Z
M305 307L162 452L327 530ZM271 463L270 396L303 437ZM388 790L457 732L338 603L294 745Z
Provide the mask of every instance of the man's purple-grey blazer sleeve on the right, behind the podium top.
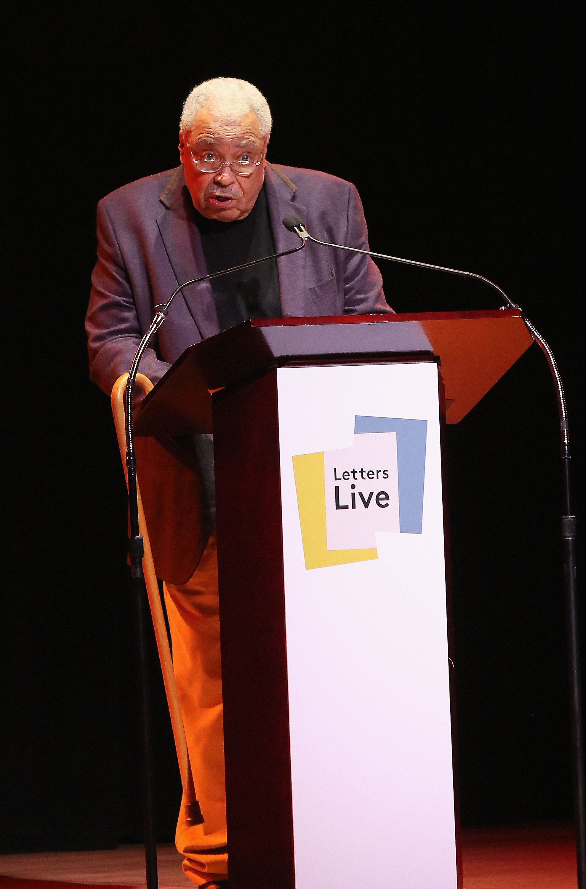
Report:
M357 188L349 187L348 225L345 244L369 250L365 212ZM344 314L387 313L392 308L382 292L382 276L370 256L344 251Z

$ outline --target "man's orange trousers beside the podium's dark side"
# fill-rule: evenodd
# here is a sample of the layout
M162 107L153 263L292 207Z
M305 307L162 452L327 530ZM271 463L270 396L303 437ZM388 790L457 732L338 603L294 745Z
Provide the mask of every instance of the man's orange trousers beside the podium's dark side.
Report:
M203 885L228 879L215 532L191 579L181 587L165 583L164 589L189 760L205 818L188 827L182 800L175 845L185 855L189 879Z

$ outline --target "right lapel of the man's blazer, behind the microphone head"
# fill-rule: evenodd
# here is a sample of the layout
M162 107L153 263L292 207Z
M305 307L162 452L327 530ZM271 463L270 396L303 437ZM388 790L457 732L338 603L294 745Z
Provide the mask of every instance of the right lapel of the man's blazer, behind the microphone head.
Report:
M270 222L273 227L273 238L277 253L293 250L301 242L294 232L287 231L283 220L287 216L298 216L304 224L307 222L307 210L301 204L293 202L294 192L279 180L270 169L265 168L265 190L269 206ZM283 256L277 260L278 283L281 292L281 310L284 317L302 317L306 314L305 302L307 284L305 278L305 250L292 256Z

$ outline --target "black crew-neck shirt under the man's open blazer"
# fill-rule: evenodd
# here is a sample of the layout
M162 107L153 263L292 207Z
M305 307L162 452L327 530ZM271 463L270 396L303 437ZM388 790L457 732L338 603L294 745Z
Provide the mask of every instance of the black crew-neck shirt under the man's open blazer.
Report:
M208 220L195 209L194 219L201 235L208 273L259 260L275 252L264 186L244 220ZM213 278L210 284L221 330L248 318L281 316L277 260Z

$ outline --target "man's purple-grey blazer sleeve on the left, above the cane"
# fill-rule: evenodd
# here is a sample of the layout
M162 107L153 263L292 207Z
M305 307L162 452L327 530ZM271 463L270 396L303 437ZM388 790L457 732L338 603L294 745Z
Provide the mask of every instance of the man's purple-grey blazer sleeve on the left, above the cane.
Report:
M144 331L140 329L132 286L104 201L98 204L98 261L85 316L90 377L109 396L118 377L127 373ZM140 372L153 383L170 367L148 348Z

